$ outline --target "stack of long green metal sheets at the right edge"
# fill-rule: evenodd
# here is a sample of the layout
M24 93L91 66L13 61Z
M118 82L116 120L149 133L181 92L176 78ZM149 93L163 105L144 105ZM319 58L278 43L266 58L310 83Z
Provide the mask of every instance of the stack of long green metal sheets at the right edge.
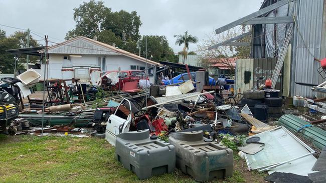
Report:
M312 141L316 147L322 149L326 146L326 131L310 124L298 116L285 114L278 119L278 122L287 129L292 129L302 134L304 138Z

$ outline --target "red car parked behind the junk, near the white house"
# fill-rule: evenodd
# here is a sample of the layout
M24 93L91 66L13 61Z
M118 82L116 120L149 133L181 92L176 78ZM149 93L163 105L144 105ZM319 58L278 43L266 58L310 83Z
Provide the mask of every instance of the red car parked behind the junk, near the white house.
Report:
M101 86L104 88L104 90L107 90L110 88L106 75L111 72L119 72L118 70L110 70L102 74L102 82ZM140 72L140 73L138 73ZM119 75L119 82L117 82L115 85L111 86L113 90L118 90L120 85L120 90L122 90L124 84L126 82L132 82L132 81L138 81L139 79L149 79L148 76L145 77L145 72L142 70L121 70L121 75ZM122 82L121 82L122 81Z

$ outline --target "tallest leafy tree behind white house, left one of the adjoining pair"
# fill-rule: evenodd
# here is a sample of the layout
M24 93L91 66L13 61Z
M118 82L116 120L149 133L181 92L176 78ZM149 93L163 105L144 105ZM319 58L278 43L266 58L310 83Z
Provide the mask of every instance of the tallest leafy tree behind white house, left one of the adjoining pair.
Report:
M98 36L104 17L108 13L111 13L111 8L106 7L103 1L83 2L78 8L74 8L73 18L76 21L76 28L69 30L65 39L79 35L88 38Z

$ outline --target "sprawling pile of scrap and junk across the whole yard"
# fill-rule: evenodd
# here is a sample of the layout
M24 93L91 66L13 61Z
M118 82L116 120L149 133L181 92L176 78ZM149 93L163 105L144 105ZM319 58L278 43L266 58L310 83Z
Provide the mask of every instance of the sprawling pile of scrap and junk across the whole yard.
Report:
M9 121L8 126L1 123L3 131L7 127L10 134L103 137L116 146L117 160L141 179L176 167L197 181L232 176L234 151L246 160L248 170L273 175L268 180L285 176L278 172L307 176L315 173L311 168L317 161L316 150L292 131L314 140L317 148L326 145L324 130L296 116L280 117L283 99L279 90L270 88L234 96L232 91L225 95L228 92L220 89L198 89L200 81L147 87L148 80L139 79L125 84L121 92L101 92L93 86L83 89L78 79L70 80L74 86L66 84L68 80L52 80L46 102L28 97L26 105L21 94L28 96L30 91L15 92L15 88L31 83L3 81L8 86L0 90L1 121ZM280 118L271 122L271 117ZM244 134L241 139L240 134ZM225 146L225 140L236 146ZM203 168L204 161L214 163ZM298 168L301 164L309 168Z

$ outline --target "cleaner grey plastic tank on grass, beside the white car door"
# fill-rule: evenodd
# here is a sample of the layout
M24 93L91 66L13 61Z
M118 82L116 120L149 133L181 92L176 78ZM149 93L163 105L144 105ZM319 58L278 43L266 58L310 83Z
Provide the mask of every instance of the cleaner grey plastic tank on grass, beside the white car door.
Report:
M176 166L175 147L157 137L150 138L148 129L118 134L115 157L140 179L171 173Z

